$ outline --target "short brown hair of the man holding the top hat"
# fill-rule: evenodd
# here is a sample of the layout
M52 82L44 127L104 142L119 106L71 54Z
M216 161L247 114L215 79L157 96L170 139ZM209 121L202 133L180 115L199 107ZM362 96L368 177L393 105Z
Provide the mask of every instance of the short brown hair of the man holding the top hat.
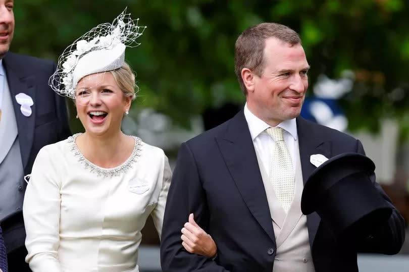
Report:
M266 39L273 37L292 45L301 43L297 32L276 23L262 23L249 27L237 38L234 46L234 70L244 94L247 94L247 89L241 78L241 70L248 68L254 74L262 75Z

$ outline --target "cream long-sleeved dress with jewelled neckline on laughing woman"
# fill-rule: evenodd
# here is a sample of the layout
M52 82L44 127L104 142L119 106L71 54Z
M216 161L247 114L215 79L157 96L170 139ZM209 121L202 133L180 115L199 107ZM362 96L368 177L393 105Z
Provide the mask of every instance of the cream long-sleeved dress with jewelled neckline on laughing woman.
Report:
M23 205L26 261L33 272L137 272L149 214L161 235L168 159L134 137L123 165L99 168L81 154L77 136L43 147L35 159Z

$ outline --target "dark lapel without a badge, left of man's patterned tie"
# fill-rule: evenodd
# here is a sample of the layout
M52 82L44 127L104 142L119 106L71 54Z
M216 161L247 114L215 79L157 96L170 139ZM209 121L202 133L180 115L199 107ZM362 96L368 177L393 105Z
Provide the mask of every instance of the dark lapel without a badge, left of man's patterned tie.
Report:
M243 111L231 120L224 137L216 141L245 204L275 243L266 191Z

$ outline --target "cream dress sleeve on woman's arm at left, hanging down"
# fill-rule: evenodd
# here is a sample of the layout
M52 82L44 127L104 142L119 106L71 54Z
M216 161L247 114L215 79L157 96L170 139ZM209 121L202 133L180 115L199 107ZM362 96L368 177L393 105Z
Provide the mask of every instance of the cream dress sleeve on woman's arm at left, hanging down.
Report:
M39 151L24 196L26 262L33 272L62 271L58 259L61 182L56 163L45 148Z

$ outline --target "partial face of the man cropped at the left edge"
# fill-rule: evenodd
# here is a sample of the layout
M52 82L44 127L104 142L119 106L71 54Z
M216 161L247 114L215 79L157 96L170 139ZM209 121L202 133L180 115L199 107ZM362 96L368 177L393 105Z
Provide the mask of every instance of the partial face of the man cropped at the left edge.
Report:
M0 0L0 58L9 50L14 34L14 0Z

